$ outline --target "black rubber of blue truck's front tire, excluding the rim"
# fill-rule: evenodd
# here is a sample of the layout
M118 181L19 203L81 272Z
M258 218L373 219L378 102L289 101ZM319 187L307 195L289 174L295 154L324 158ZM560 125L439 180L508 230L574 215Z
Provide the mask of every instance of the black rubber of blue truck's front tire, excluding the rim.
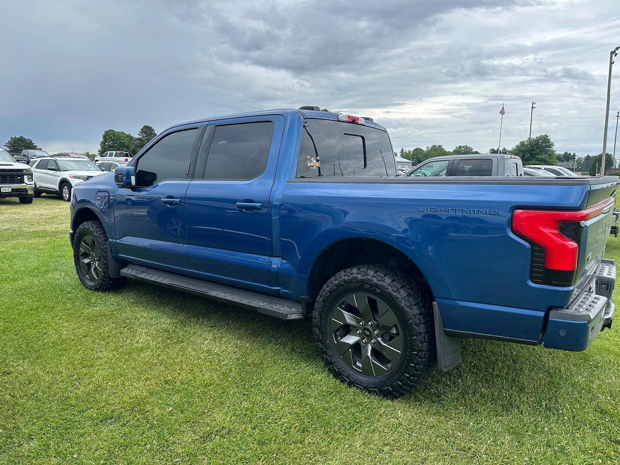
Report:
M99 246L100 254L100 276L91 280L82 271L80 259L80 246L85 237L92 237ZM110 263L108 262L108 236L105 234L104 226L100 221L85 221L79 225L73 239L73 262L76 273L82 285L91 291L108 292L120 289L125 285L126 278L110 277Z

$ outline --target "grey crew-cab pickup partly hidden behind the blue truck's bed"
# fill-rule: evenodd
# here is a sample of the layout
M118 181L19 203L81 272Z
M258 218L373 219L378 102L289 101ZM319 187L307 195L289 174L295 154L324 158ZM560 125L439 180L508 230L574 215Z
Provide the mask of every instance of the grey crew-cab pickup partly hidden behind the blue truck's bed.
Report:
M510 154L473 154L433 157L414 166L405 176L522 176L523 164Z

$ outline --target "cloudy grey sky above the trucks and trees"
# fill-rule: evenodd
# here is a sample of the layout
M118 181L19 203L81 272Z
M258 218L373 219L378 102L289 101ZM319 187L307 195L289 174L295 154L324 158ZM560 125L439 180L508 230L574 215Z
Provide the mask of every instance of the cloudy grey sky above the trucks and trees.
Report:
M2 0L0 19L0 145L24 135L50 152L300 105L373 117L396 150L485 152L502 103L511 148L536 101L534 135L600 153L620 45L619 0Z

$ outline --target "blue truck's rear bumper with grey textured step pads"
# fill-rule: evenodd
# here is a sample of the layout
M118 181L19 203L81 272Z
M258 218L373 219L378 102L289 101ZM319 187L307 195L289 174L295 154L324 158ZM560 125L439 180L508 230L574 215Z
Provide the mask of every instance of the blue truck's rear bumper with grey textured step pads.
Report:
M590 291L567 308L549 312L544 347L580 351L590 347L601 330L611 328L614 304L611 294L616 285L616 262L601 259Z

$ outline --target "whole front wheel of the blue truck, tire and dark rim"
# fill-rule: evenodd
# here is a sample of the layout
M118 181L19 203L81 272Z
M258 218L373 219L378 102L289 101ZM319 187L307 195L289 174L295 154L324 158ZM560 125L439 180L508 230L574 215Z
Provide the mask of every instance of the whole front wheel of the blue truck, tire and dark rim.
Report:
M108 236L99 221L79 225L73 239L73 262L82 285L91 291L121 288L126 278L111 278L108 262Z

